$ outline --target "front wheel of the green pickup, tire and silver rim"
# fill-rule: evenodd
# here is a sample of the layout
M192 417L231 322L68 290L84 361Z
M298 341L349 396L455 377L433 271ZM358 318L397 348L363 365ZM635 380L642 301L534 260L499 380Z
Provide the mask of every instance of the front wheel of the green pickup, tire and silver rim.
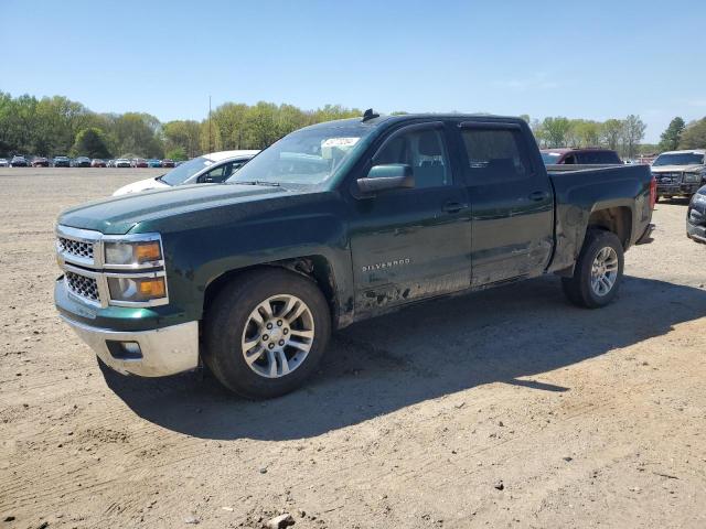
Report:
M203 359L231 391L269 399L303 384L330 335L329 305L312 280L284 269L258 270L228 283L208 307Z

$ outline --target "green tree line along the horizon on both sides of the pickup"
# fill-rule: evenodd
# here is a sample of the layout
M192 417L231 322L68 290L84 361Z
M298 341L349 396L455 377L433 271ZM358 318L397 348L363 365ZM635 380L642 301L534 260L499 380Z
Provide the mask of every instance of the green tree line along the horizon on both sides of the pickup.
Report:
M22 153L185 160L220 150L264 149L301 127L361 115L360 109L340 105L302 110L265 101L226 102L211 112L210 120L162 123L145 112L94 112L63 96L12 97L0 91L0 156ZM642 143L646 126L634 115L602 122L523 118L543 148L607 147L623 158L633 158L643 152L706 147L706 118L691 123L674 118L659 145Z

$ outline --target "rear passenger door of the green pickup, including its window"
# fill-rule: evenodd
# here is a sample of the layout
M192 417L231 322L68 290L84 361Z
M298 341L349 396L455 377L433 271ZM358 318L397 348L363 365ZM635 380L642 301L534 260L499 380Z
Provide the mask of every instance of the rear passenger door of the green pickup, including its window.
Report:
M472 214L472 285L536 276L554 247L549 179L517 123L462 122Z

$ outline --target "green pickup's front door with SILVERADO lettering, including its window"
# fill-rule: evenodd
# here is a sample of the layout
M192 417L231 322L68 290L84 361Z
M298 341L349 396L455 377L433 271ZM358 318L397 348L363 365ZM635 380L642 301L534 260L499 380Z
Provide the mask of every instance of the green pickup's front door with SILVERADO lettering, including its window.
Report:
M445 131L411 127L383 147L374 163L406 163L414 188L357 199L351 250L359 315L470 284L470 209L452 174Z

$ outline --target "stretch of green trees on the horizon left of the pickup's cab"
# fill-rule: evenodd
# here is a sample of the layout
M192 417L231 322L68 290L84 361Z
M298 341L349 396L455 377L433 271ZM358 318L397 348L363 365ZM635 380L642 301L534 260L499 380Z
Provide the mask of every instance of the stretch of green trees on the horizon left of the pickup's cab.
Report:
M211 112L211 120L162 123L145 112L94 112L63 96L39 99L0 91L0 156L186 160L204 152L264 149L301 127L362 114L340 105L301 110L265 101L252 106L226 102Z

